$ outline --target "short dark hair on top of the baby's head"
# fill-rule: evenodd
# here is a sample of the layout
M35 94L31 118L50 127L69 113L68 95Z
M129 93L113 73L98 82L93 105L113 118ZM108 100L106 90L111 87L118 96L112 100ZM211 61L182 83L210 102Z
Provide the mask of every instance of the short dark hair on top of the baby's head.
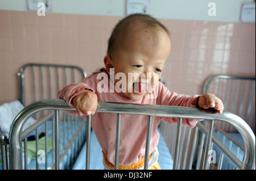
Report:
M166 33L170 37L169 30L166 28L166 26L160 23L158 19L148 14L141 14L141 13L130 14L125 18L119 20L119 22L115 25L108 40L108 50L107 50L108 56L111 57L112 52L119 41L118 35L125 34L127 26L129 26L129 24L133 23L135 20L138 20L139 22L143 23L147 27L155 28L155 30L160 30L160 28L163 28L163 30L166 31Z

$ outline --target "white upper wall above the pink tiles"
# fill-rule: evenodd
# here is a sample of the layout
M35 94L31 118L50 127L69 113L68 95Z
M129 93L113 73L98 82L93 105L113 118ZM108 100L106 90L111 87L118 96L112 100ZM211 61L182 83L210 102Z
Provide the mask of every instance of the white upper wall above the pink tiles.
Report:
M254 0L150 0L155 18L240 22L243 3ZM216 16L209 16L208 3L216 3ZM27 11L27 0L0 0L0 9ZM125 16L126 0L52 0L52 12L67 14Z

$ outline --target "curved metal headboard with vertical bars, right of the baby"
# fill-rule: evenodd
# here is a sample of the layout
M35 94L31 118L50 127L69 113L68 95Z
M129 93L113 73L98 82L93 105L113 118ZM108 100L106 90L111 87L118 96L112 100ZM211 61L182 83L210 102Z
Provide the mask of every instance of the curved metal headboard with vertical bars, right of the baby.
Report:
M210 92L218 96L225 111L240 116L255 134L255 77L216 75L207 79L203 94ZM225 132L236 130L227 124L216 125Z

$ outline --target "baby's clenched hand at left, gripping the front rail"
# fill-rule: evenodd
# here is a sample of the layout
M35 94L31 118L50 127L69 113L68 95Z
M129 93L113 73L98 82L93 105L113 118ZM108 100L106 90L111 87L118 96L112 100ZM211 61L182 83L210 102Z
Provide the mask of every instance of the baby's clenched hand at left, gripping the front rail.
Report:
M85 89L73 98L73 104L79 116L94 115L98 107L98 98L94 92Z

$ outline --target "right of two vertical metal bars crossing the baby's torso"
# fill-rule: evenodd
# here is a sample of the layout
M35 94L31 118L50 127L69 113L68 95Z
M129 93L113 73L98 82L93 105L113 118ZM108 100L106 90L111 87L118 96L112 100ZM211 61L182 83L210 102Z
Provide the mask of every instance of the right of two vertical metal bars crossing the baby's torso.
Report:
M150 151L151 125L152 125L152 116L148 116L148 119L147 119L146 149L145 149L145 158L144 158L144 170L148 169L148 157L149 157L149 151Z

